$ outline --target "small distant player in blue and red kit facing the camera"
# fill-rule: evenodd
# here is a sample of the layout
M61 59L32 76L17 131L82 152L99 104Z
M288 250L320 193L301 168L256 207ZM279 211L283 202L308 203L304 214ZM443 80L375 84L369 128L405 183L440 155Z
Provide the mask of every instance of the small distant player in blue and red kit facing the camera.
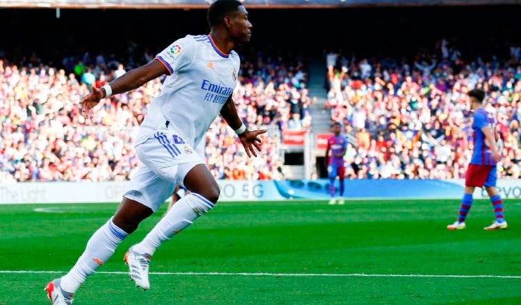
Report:
M335 180L336 177L340 180L340 200L338 204L344 204L342 195L344 194L344 179L345 179L345 163L344 155L347 149L347 139L340 135L342 125L340 123L333 123L333 135L327 139L326 148L326 167L327 176L331 181L329 183L329 193L331 193L331 200L329 204L335 204ZM331 155L329 155L331 153Z

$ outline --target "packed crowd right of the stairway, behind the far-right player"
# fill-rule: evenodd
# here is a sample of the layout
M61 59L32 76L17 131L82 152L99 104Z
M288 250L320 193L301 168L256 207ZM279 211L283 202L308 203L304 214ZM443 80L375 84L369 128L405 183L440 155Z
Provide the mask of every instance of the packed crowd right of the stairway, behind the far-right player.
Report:
M324 53L326 108L352 139L348 178L464 178L473 145L465 92L476 87L499 132L498 177L520 178L521 48L465 61L447 40L437 45L411 60Z

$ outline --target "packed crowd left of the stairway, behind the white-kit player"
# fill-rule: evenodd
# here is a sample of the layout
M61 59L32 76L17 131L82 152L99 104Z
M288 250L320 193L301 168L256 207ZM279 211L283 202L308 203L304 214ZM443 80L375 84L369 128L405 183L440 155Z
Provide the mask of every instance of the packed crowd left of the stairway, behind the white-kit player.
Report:
M151 54L142 59L151 60ZM93 85L101 87L132 68L101 52L64 58L60 68L42 64L36 54L17 64L0 60L0 182L129 180L139 163L136 128L162 79L104 99L86 118L78 101ZM276 125L279 131L309 128L306 108L313 98L299 58L256 55L242 61L241 73L233 98L243 121ZM217 179L278 180L280 142L280 132L268 134L263 154L248 158L218 117L206 134L206 164Z

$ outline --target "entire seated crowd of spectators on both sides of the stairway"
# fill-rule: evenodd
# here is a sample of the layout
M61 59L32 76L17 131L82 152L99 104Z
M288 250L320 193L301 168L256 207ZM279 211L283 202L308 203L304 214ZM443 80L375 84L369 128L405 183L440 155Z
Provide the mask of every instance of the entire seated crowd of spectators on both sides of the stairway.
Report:
M445 40L415 58L346 58L330 52L326 109L345 126L347 175L355 179L461 178L472 151L465 92L482 87L502 139L500 177L519 178L520 48L511 56L465 62ZM142 60L151 60L145 51ZM161 79L105 99L88 117L78 109L90 87L101 87L137 65L103 52L83 53L49 67L36 54L0 59L0 182L128 180L139 163L136 127ZM254 53L243 58L233 98L249 125L311 128L308 70L303 58ZM279 180L279 132L263 153L247 158L218 117L206 134L206 163L217 179Z

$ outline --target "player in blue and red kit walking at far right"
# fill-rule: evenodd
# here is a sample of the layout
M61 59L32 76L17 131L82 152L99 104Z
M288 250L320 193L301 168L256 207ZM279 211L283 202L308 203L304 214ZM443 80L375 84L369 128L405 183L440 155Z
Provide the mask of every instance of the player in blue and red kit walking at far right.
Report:
M483 99L485 92L483 89L472 89L468 92L471 110L474 112L474 120L472 122L472 137L474 142L474 151L465 176L465 193L461 200L458 213L458 220L452 225L448 225L447 229L457 230L465 229L465 218L472 207L472 193L476 186L483 187L490 197L494 208L495 221L492 225L485 227L486 230L506 229L503 200L496 189L497 168L496 164L501 159L501 155L495 147L495 142L499 137L494 130L494 119L485 108L483 108Z

